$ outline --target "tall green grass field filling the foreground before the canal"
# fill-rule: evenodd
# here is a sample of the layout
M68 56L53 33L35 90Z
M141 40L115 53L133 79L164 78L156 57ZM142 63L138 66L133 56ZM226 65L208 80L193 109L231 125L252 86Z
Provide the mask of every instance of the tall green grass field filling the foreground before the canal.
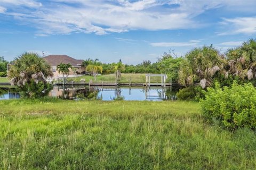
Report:
M0 101L0 169L255 169L255 133L182 101Z

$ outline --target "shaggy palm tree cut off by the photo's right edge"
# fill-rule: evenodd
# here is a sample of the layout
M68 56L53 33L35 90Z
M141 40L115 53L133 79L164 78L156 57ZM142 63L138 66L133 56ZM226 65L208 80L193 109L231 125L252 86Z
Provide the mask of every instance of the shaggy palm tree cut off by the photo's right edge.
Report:
M228 74L238 75L240 78L251 80L256 77L256 40L249 39L241 47L228 49L226 56L229 60Z

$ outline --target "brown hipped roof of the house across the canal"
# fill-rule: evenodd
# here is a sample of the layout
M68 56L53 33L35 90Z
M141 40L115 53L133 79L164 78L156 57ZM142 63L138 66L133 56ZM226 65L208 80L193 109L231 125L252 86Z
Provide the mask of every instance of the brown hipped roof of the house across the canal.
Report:
M48 55L43 58L51 66L57 66L60 63L64 63L64 64L70 63L72 66L79 66L83 62L83 60L76 60L75 58L69 57L67 55Z

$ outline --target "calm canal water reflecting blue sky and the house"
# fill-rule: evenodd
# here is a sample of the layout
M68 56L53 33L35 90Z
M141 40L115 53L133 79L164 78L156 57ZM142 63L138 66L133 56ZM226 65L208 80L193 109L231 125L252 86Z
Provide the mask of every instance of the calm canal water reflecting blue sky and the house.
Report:
M61 86L55 86L49 93L51 97L63 99L83 99L94 97L101 100L175 100L179 86L172 87L84 87L69 86L65 90ZM0 88L0 100L20 98L15 89Z

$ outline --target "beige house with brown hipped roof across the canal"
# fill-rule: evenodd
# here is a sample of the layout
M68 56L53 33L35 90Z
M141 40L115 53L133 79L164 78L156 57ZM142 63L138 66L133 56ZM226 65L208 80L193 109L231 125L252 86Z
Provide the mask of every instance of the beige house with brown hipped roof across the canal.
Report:
M62 73L59 73L57 70L57 65L60 63L70 63L72 65L73 68L69 69L69 75L77 75L85 72L85 67L82 65L83 60L76 60L67 55L48 55L43 58L51 66L53 77L62 77Z

